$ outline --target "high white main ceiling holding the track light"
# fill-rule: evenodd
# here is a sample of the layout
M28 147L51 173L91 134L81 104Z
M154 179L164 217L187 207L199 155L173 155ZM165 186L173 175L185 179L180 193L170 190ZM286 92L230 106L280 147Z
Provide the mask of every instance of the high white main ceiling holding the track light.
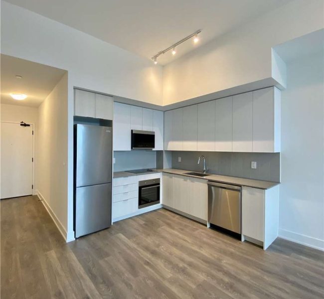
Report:
M162 65L289 1L7 0L146 58L202 29L198 44L165 53Z

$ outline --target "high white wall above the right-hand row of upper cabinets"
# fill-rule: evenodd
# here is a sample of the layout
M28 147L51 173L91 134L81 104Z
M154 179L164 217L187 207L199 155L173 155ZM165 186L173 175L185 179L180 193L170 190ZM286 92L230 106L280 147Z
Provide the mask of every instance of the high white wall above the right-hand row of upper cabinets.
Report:
M281 83L282 74L272 71L271 47L323 22L323 0L295 0L198 47L164 67L163 105L270 77Z

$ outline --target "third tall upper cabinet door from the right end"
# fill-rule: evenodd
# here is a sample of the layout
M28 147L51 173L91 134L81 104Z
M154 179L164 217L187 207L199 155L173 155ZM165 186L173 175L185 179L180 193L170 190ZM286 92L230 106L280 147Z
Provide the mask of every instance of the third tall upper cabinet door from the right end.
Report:
M215 151L232 151L232 97L215 101Z

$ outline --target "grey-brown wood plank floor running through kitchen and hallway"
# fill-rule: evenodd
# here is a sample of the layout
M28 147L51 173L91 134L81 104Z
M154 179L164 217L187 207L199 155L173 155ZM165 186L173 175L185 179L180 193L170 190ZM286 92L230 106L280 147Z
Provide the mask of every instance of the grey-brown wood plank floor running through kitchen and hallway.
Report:
M36 196L1 208L1 299L324 298L324 253L264 252L164 209L66 244Z

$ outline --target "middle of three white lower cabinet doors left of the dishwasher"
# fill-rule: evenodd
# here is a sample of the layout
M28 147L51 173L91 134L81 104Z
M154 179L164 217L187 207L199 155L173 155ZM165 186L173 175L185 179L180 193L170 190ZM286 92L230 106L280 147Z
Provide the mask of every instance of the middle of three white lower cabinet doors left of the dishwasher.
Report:
M174 176L174 208L189 213L189 180Z

